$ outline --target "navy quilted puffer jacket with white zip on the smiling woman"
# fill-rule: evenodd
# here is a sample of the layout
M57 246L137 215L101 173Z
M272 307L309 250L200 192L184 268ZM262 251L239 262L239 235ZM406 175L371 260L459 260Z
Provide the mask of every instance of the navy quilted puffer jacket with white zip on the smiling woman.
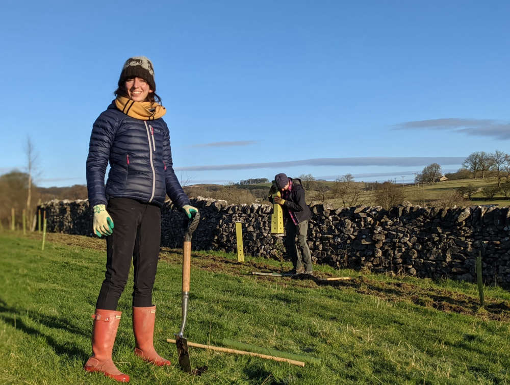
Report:
M111 168L105 186L108 161ZM173 171L165 121L132 118L114 102L94 122L86 170L91 206L122 197L162 207L165 193L179 208L189 204Z

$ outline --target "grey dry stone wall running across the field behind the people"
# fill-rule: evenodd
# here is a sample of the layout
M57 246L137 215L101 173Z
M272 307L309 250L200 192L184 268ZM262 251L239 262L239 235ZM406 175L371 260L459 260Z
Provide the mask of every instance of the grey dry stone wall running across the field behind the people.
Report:
M236 252L235 222L240 221L245 254L287 258L283 238L270 234L270 205L204 198L191 204L201 216L193 249ZM46 210L48 231L92 236L88 201L50 201L40 209ZM484 281L510 286L508 208L330 210L319 204L311 210L308 242L316 264L474 281L475 258L481 255ZM183 223L182 212L165 204L162 246L182 247Z

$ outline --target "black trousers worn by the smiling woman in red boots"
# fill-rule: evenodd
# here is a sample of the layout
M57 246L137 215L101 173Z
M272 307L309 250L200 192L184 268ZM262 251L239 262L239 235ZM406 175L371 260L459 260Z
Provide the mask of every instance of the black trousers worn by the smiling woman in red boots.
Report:
M127 283L133 259L133 306L152 306L161 242L161 209L135 199L112 198L108 202L113 234L106 237L106 274L96 309L116 310Z

